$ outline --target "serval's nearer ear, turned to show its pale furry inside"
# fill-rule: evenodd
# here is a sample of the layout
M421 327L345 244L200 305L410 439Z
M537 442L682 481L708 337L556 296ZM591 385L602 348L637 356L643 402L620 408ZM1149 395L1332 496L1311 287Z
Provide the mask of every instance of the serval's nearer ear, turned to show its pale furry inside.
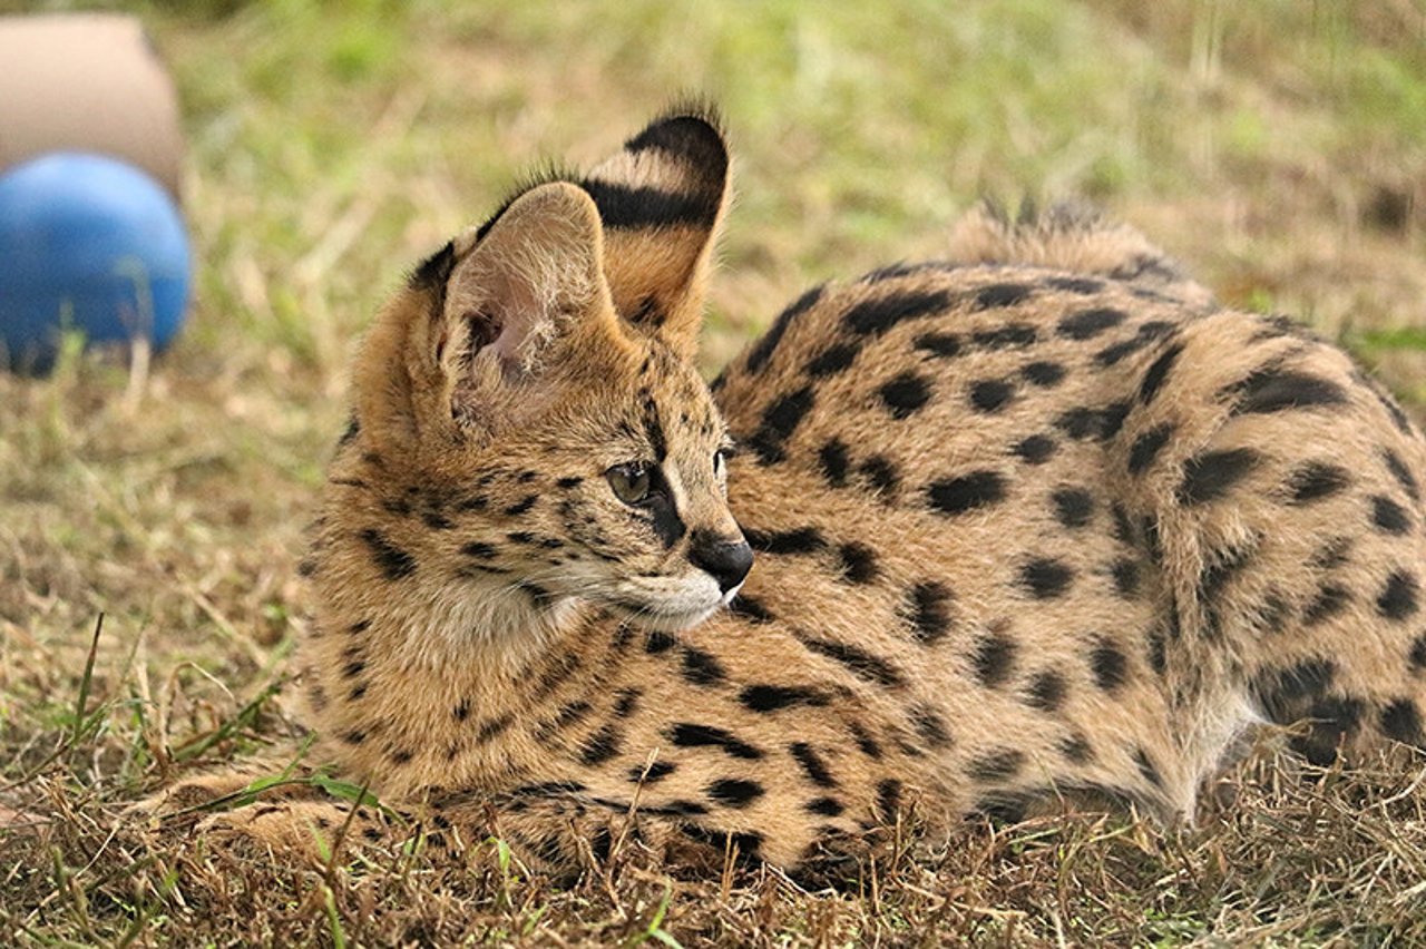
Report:
M459 443L519 425L565 378L623 341L599 211L538 185L426 261L358 359L364 433L388 447Z

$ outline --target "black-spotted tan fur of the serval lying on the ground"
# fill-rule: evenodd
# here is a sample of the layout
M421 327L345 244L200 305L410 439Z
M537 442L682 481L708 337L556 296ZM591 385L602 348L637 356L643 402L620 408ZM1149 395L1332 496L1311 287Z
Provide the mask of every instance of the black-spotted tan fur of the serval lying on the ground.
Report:
M1318 761L1422 741L1426 445L1346 356L1122 225L981 211L950 262L794 304L716 408L687 355L726 160L677 130L595 175L703 195L677 222L540 185L379 316L309 559L319 761L449 845L793 866L913 798L1191 819L1266 718L1312 720ZM682 533L615 496L630 462ZM739 523L757 563L714 611L694 560ZM291 849L344 816L207 829Z

